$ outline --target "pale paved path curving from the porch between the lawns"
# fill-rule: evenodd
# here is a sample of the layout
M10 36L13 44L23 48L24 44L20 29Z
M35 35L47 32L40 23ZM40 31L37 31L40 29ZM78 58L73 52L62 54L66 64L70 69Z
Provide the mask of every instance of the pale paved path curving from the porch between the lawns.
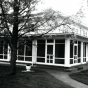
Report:
M58 80L61 80L74 88L88 88L88 85L80 83L69 77L69 72L56 71L56 70L46 70L48 73L53 75Z

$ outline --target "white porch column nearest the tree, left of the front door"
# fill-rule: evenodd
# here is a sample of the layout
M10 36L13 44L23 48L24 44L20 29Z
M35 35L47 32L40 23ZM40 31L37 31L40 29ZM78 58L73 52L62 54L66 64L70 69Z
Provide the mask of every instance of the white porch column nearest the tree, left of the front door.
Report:
M32 64L36 63L37 59L37 40L32 42Z

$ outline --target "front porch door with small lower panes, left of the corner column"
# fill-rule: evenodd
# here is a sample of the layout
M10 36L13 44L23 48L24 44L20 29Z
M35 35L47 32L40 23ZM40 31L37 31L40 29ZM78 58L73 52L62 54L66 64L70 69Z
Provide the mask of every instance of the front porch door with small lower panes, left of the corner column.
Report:
M53 45L47 45L47 63L53 63Z

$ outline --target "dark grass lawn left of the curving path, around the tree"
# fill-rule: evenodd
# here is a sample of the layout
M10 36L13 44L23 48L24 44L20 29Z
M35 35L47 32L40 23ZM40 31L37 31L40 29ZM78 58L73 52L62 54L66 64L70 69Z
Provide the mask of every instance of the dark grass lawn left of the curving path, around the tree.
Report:
M49 73L35 70L35 72L21 72L24 68L17 67L15 76L6 75L9 66L0 65L0 88L72 88L57 80Z

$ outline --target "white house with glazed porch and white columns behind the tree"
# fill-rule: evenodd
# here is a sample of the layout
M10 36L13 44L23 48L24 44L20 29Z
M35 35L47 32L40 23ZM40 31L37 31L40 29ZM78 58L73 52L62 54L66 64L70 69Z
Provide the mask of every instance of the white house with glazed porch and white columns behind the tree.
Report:
M36 35L44 30L35 31ZM19 43L20 44L20 43ZM3 46L2 46L3 45ZM10 60L10 48L0 42L0 61ZM72 67L88 61L88 27L67 24L50 31L36 40L29 41L17 51L17 62L40 65Z

